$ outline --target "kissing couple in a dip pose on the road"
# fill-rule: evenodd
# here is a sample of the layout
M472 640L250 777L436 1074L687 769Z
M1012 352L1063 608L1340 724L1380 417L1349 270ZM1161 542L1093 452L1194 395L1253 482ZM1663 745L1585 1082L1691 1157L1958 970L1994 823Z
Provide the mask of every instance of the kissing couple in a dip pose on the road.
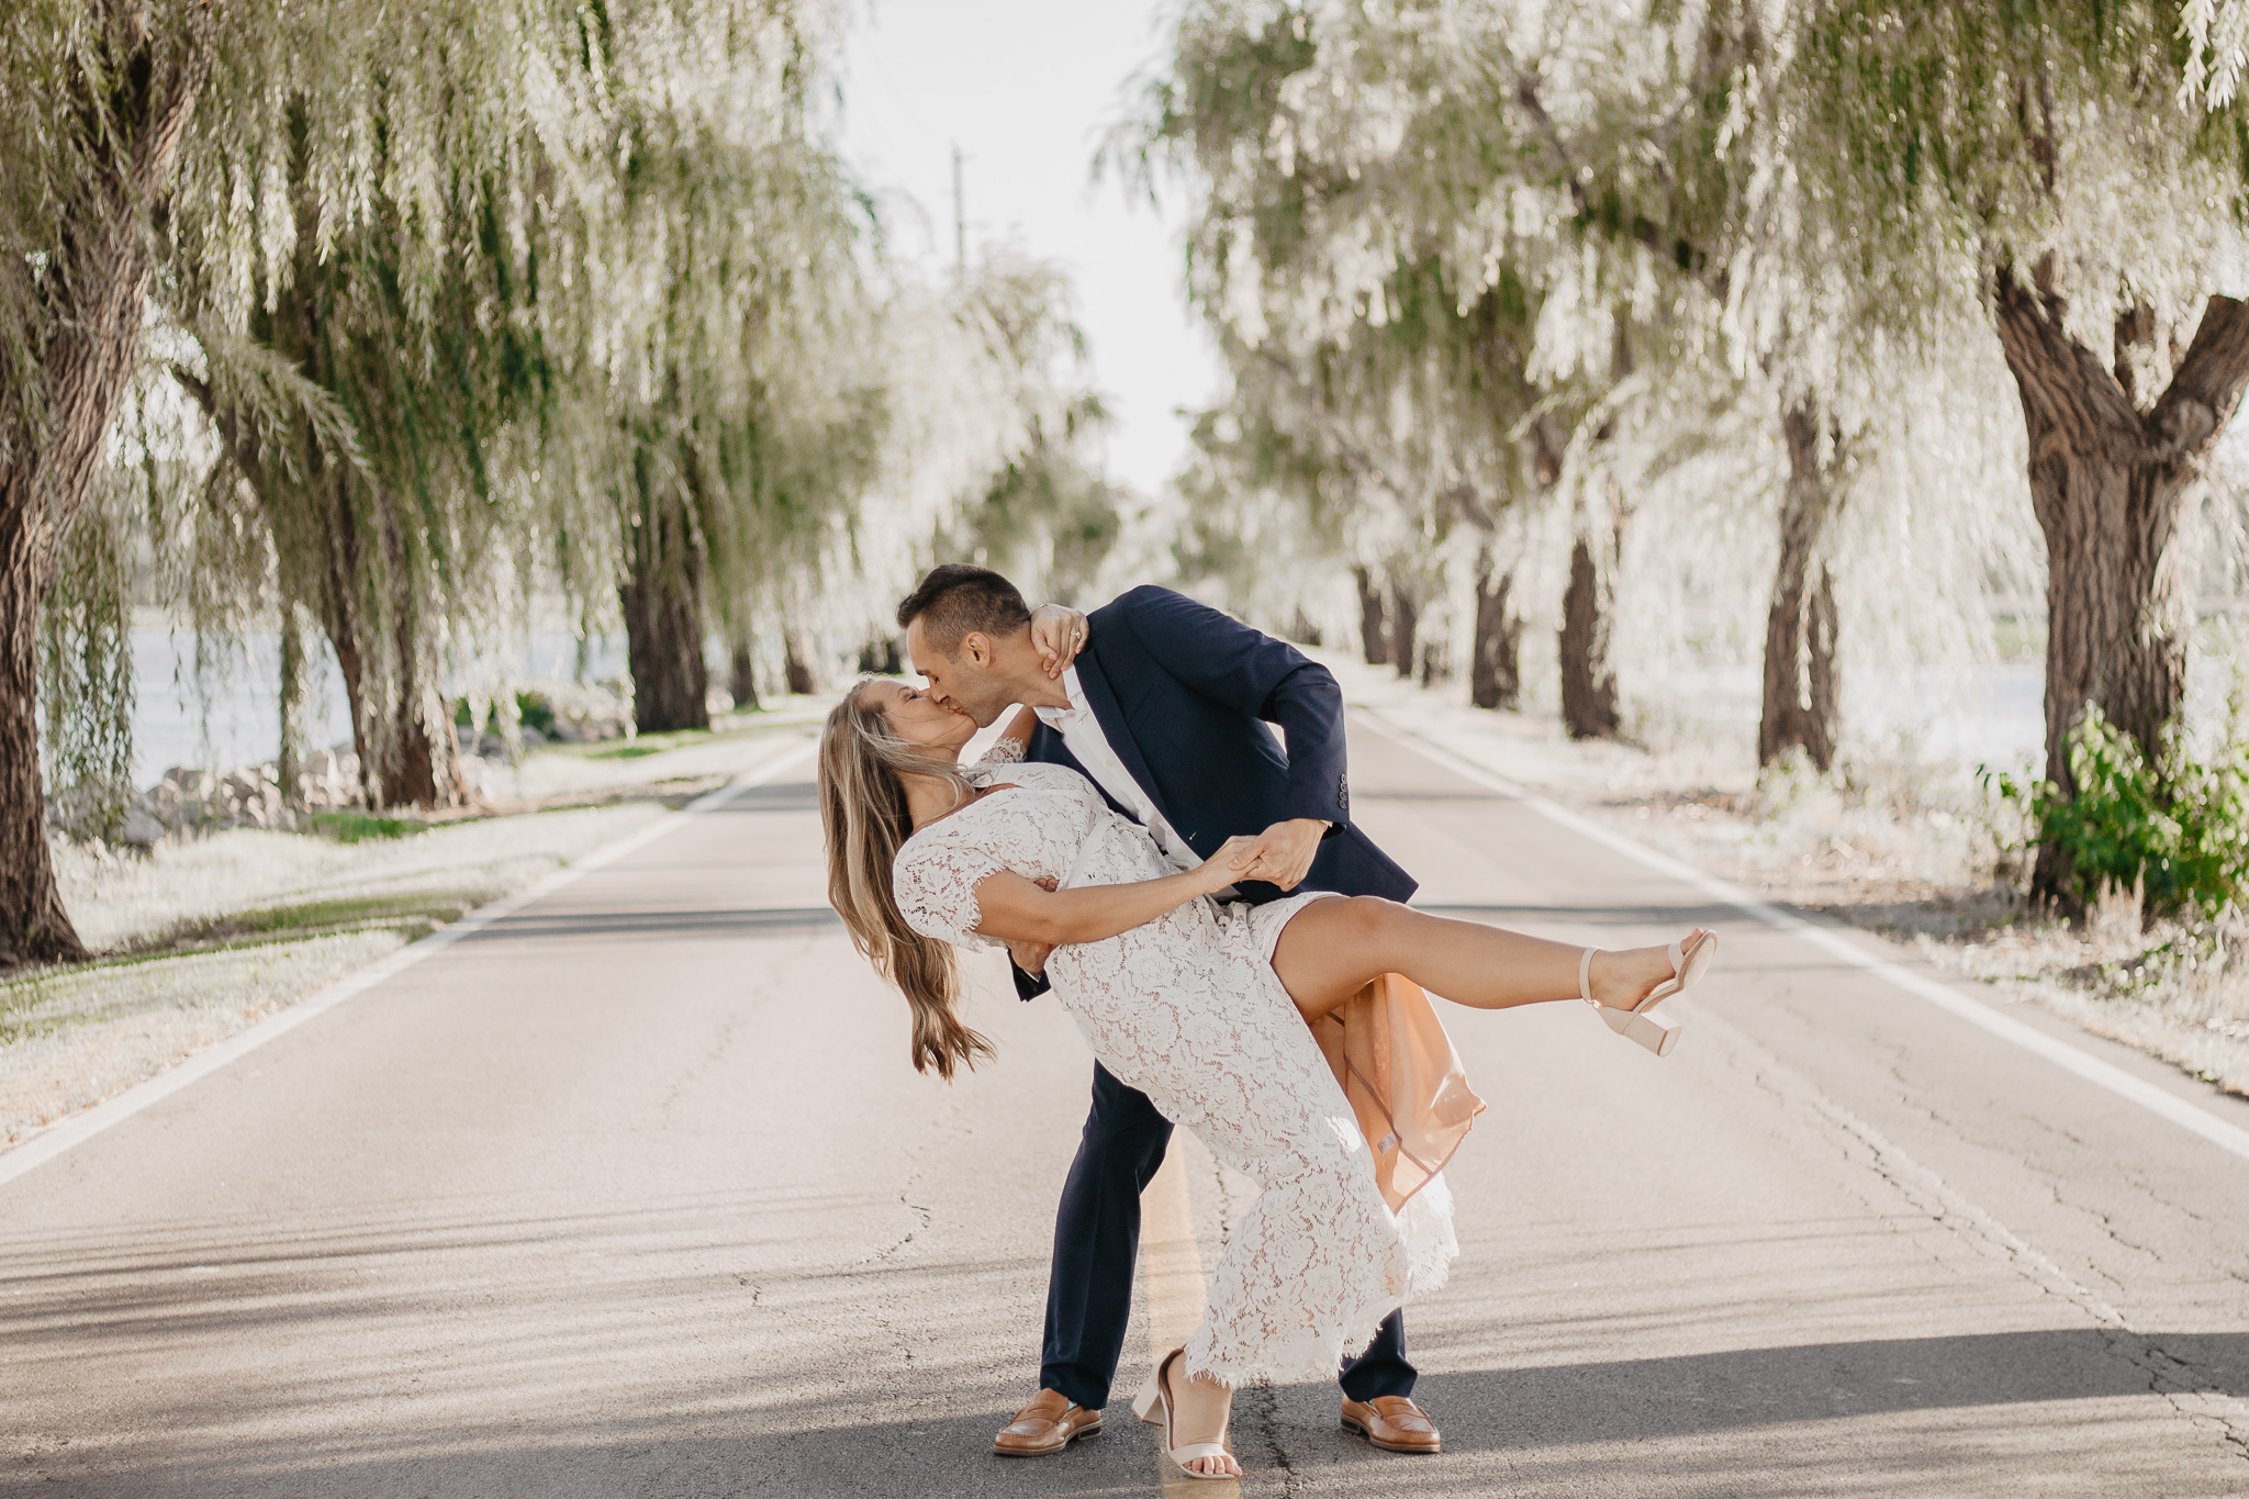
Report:
M1352 825L1334 674L1181 593L1035 618L999 573L949 564L897 623L927 685L868 676L821 735L830 901L904 991L915 1068L992 1056L960 1020L963 946L1010 948L1017 991L1050 987L1095 1056L1039 1396L994 1450L1041 1456L1100 1429L1140 1191L1178 1124L1262 1193L1203 1321L1133 1400L1172 1463L1239 1477L1228 1409L1259 1378L1340 1378L1343 1425L1437 1452L1401 1308L1444 1283L1457 1243L1442 1160L1410 1182L1399 1137L1442 1112L1457 1142L1480 1106L1415 987L1469 1009L1586 1000L1662 1054L1676 1029L1655 1005L1702 973L1716 935L1604 953L1412 910L1412 876ZM960 764L1010 708L992 753ZM1336 1041L1399 991L1403 1052L1437 1059L1397 1068L1403 1088L1343 1065L1363 1038ZM1394 1128L1374 1137L1374 1119Z

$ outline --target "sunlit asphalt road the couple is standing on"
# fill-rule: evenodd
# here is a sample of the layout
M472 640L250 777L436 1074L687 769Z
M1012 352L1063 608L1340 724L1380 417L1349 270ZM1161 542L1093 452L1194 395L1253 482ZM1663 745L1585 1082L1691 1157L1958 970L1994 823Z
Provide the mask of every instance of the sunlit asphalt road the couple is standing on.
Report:
M1352 753L1424 903L1709 924L1723 966L1667 1061L1577 1005L1448 1014L1491 1112L1408 1312L1446 1452L1248 1391L1241 1492L2249 1495L2249 1160L1365 724ZM1181 1137L1107 1434L990 1456L1091 1063L978 982L999 1065L915 1076L805 771L744 791L0 1184L0 1488L1156 1492L1124 1398L1244 1184Z

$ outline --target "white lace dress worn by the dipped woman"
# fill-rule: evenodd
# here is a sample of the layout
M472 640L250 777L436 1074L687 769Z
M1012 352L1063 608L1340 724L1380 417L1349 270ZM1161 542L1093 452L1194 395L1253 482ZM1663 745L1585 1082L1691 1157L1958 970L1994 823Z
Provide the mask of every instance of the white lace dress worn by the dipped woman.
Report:
M976 885L1014 870L1066 888L1158 879L1154 841L1066 766L1010 764L1012 742L974 766L1012 784L913 834L893 865L913 930L965 946ZM1187 1339L1187 1371L1223 1384L1334 1378L1347 1353L1457 1254L1437 1178L1392 1214L1352 1106L1273 973L1282 928L1318 894L1266 906L1190 901L1102 942L1055 948L1055 998L1093 1054L1214 1157L1264 1191L1235 1225Z

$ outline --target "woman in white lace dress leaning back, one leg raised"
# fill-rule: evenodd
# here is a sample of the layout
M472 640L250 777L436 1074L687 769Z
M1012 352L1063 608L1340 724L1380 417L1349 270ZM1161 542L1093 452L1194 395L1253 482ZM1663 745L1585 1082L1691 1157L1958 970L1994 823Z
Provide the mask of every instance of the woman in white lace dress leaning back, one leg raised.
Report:
M974 719L897 681L852 688L821 737L830 899L906 993L915 1068L951 1076L992 1054L956 1014L954 946L1048 944L1055 996L1102 1065L1264 1189L1201 1326L1133 1402L1187 1474L1237 1477L1232 1389L1334 1375L1457 1252L1442 1178L1397 1214L1383 1202L1309 1023L1403 973L1478 1009L1586 998L1667 1050L1649 1011L1698 978L1716 937L1599 953L1372 897L1219 906L1250 838L1172 872L1084 775L1019 764L1032 724L1019 712L963 769Z

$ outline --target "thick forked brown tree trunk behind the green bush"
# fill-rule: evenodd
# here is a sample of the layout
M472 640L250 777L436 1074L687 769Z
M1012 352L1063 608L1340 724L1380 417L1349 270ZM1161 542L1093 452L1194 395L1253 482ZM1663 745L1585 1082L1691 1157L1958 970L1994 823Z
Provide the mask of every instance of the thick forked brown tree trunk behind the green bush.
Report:
M2047 537L2047 780L2076 796L2069 730L2087 703L2157 757L2186 692L2170 539L2242 389L2249 303L2211 297L2170 384L2141 411L2076 337L2049 267L1997 276L1997 328L2031 440L2031 506ZM2038 854L2033 892L2076 908L2067 854Z

